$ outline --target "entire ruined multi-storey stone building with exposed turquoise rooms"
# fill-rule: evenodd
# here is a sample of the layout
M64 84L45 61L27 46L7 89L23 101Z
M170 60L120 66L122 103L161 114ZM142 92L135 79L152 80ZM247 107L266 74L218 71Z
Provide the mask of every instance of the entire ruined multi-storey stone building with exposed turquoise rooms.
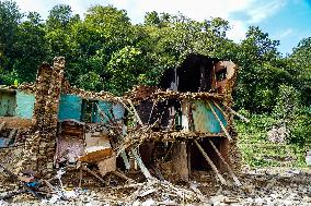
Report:
M65 58L43 63L34 85L0 88L0 159L14 174L44 179L66 170L76 186L87 175L108 185L112 175L187 182L212 171L237 185L240 167L231 109L237 65L189 54L166 70L158 87L137 86L122 97L71 87ZM48 183L47 183L48 184ZM50 186L50 185L49 185Z

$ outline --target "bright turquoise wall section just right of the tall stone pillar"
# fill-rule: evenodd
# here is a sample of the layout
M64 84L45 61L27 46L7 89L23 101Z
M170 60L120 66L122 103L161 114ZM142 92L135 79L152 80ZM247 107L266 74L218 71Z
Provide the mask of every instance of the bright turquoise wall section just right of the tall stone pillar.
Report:
M61 95L59 104L58 119L81 120L82 99L77 95Z

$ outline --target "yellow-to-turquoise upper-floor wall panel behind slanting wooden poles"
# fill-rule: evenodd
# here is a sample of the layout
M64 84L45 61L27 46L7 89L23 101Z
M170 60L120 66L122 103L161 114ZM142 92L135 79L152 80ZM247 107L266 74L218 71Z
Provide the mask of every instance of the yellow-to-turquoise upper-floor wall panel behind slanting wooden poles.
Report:
M193 102L193 119L194 119L194 130L201 133L220 133L220 123L217 121L212 114L210 108L205 100L194 100ZM217 109L214 104L210 104L218 114L219 119L226 126L228 123L223 114Z

